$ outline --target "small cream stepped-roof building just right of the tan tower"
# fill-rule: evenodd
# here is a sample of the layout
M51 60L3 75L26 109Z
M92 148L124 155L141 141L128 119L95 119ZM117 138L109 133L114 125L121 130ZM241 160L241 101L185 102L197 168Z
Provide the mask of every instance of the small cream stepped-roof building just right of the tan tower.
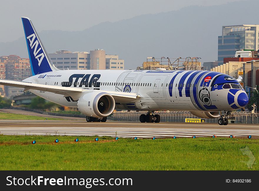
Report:
M124 60L119 59L118 55L105 55L105 69L124 70Z

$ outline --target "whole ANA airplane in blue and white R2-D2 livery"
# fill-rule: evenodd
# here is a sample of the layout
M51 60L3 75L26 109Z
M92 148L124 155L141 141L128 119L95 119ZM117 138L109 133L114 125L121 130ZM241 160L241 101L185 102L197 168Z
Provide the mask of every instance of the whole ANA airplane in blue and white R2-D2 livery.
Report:
M78 108L87 122L106 122L114 109L147 111L142 123L159 123L159 110L190 111L200 118L219 118L228 125L232 110L248 104L235 78L196 70L59 70L52 63L31 20L22 17L32 76L0 80L51 102Z

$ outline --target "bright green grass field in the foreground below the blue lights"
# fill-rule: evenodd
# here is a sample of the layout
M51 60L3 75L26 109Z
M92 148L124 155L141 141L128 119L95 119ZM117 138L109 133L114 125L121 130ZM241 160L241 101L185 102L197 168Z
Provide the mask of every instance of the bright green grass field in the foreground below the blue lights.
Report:
M75 138L0 135L0 170L249 170L240 148L259 157L259 140L252 139Z

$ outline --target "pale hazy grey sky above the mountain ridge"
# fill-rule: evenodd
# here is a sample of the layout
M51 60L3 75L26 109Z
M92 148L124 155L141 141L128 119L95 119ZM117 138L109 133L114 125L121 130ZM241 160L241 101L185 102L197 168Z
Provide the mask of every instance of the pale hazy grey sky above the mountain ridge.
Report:
M105 21L233 1L237 0L0 0L0 42L14 41L24 35L21 16L29 17L38 32L81 31Z

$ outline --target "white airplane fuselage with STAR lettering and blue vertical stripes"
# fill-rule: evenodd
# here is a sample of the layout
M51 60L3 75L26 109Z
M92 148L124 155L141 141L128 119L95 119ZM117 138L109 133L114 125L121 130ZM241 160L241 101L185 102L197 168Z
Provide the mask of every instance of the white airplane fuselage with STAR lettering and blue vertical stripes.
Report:
M210 79L204 80L208 75ZM212 91L210 87L213 78L219 75L224 74L211 71L61 70L41 73L24 81L52 86L140 94L141 98L134 102L116 103L115 109L233 110L228 104L228 90L219 88ZM51 102L67 107L77 107L77 100L73 100L71 97L46 91L30 91ZM238 91L243 90L240 88ZM207 103L207 98L205 101L203 100L204 96L207 96L210 103Z

